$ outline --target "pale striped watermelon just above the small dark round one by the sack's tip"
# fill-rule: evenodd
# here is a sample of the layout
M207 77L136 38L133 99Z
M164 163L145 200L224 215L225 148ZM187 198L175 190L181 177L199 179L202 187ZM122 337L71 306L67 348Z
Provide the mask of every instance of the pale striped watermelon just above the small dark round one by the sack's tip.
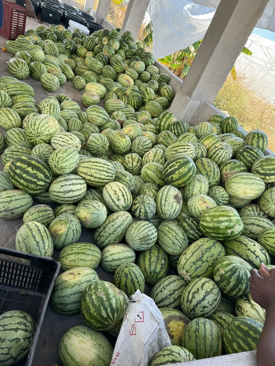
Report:
M122 263L133 263L135 259L135 252L127 244L110 244L102 250L101 266L114 273Z

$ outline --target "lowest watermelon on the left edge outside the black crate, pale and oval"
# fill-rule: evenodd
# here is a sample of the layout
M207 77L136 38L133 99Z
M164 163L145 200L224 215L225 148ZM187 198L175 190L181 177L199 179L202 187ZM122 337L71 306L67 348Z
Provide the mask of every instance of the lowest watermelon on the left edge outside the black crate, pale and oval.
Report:
M26 192L10 189L0 193L0 217L3 219L18 219L32 205L32 196Z

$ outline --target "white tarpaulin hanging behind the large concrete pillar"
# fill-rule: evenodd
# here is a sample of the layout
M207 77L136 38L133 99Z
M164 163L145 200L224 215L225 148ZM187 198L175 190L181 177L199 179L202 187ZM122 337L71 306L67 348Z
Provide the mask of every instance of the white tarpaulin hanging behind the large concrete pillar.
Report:
M201 40L219 3L220 0L151 0L155 58L170 55ZM269 0L256 26L275 31L275 0Z

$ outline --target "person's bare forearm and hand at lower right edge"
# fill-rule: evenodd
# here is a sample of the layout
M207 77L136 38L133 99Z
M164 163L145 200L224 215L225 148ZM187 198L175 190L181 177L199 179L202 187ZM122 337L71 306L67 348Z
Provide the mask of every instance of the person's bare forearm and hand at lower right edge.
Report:
M252 269L250 293L252 299L265 309L265 322L257 346L258 366L275 364L275 269L267 269L261 264L261 270Z

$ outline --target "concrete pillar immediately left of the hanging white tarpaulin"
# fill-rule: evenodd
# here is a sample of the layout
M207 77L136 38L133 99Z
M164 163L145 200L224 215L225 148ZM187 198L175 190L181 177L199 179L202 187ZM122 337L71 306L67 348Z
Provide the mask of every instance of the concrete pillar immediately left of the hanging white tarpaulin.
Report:
M148 8L150 0L130 0L120 33L123 34L125 30L130 30L133 39L136 40L142 25L144 15Z

